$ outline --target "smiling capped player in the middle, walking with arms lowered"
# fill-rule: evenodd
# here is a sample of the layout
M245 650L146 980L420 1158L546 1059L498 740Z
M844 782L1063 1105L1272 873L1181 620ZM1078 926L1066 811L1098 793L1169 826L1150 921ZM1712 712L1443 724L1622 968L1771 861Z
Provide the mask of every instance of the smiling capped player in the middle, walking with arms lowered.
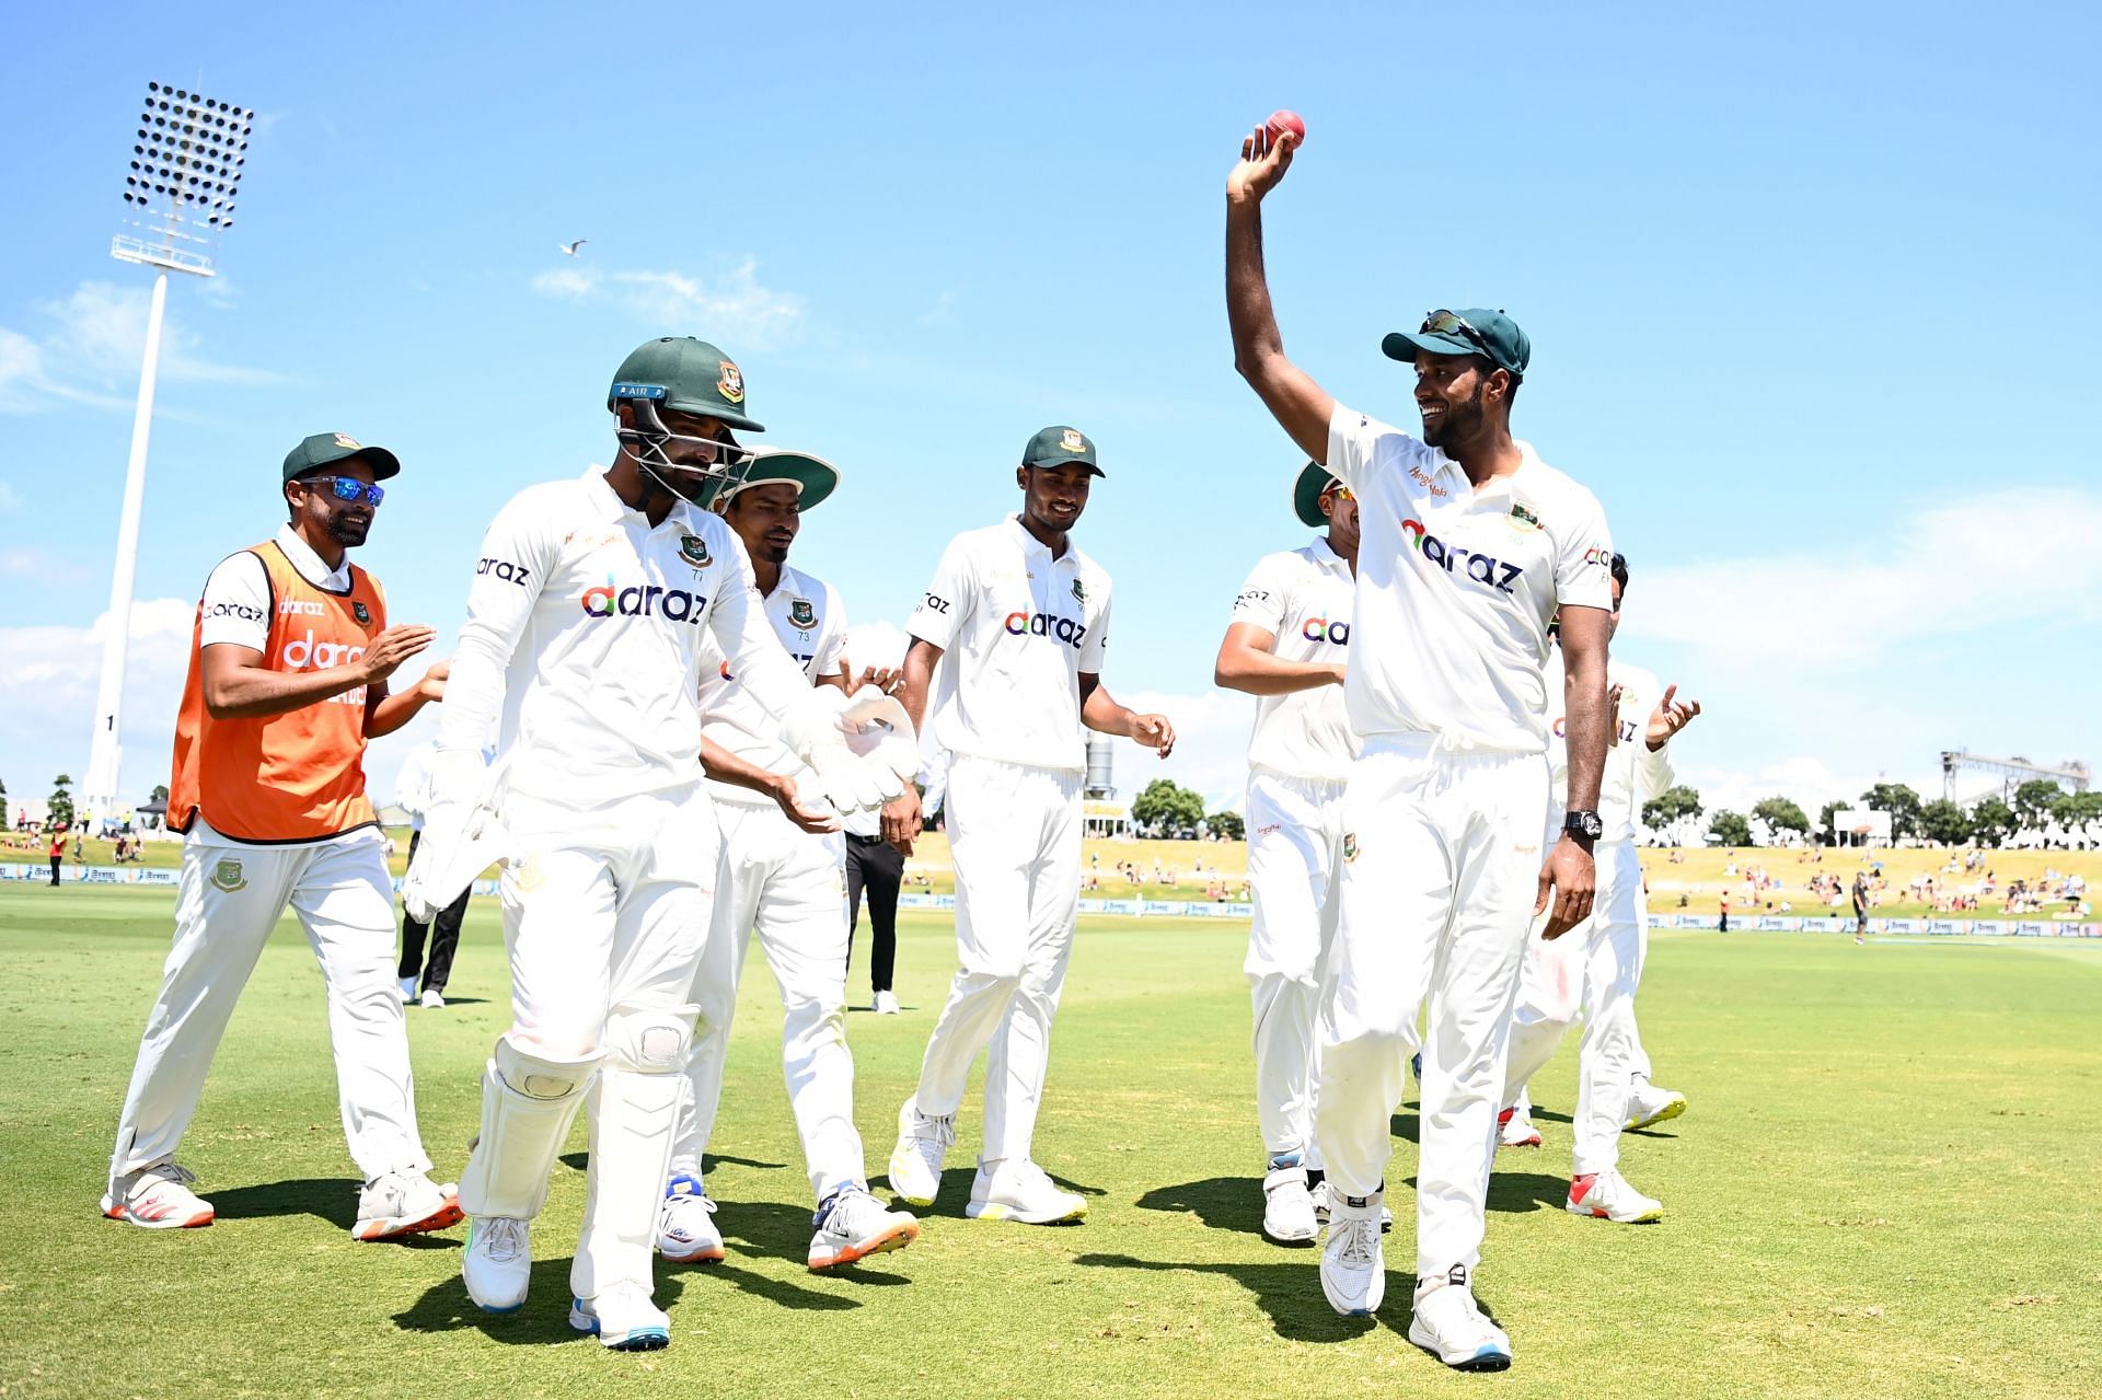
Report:
M919 1089L898 1110L891 1190L933 1205L942 1158L977 1051L986 1144L965 1215L1032 1226L1080 1219L1087 1200L1030 1156L1051 1055L1051 1017L1080 900L1080 782L1087 734L1175 748L1165 715L1139 715L1101 685L1110 576L1072 542L1101 467L1078 429L1047 427L1022 450L1022 511L950 540L906 631L902 700L919 725L935 662L937 744L948 750L946 822L956 862L956 977L927 1041ZM910 788L883 835L919 832Z

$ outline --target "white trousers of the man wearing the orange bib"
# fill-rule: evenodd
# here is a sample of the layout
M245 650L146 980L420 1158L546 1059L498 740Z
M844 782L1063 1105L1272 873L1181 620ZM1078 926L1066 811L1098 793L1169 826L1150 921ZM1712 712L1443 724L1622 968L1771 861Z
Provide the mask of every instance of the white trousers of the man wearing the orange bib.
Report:
M393 980L393 881L378 830L349 841L248 845L200 816L183 841L174 946L118 1118L111 1186L174 1158L233 1003L286 904L322 963L351 1160L368 1181L431 1169L416 1133L408 1028Z

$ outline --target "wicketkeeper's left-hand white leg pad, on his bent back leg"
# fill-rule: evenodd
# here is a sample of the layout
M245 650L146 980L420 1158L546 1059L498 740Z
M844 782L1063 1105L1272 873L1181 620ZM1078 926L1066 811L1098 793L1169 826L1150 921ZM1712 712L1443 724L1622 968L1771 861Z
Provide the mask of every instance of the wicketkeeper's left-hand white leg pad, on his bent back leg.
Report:
M540 1213L555 1154L599 1059L561 1059L509 1034L496 1038L496 1053L481 1072L481 1135L460 1173L462 1211L507 1219Z

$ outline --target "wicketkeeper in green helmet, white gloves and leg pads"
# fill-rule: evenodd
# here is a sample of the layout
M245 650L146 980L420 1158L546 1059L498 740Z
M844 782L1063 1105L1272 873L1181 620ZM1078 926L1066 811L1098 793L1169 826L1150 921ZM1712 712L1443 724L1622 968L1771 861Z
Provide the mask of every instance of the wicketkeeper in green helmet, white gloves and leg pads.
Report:
M780 717L828 797L866 807L898 780L845 746L837 706L774 639L744 544L698 509L744 467L731 433L761 431L738 364L704 341L650 341L605 404L614 465L519 492L483 538L404 904L427 917L504 860L513 1026L488 1062L460 1179L469 1297L488 1312L523 1305L528 1230L584 1106L570 1324L647 1352L671 1341L650 1265L717 868L704 643Z

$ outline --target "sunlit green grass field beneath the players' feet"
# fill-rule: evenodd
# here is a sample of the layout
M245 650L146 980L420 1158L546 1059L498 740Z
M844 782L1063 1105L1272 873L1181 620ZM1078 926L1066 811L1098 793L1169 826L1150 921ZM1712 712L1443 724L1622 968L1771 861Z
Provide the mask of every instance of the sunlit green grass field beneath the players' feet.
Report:
M1038 1158L1085 1226L965 1221L977 1095L925 1236L803 1270L809 1202L755 967L710 1190L717 1268L660 1268L675 1343L616 1356L563 1324L582 1125L538 1228L526 1312L483 1318L460 1232L353 1244L320 975L265 952L185 1160L210 1230L97 1215L172 895L0 887L0 1396L2091 1396L2102 1394L2102 946L1658 933L1644 1034L1692 1110L1629 1135L1661 1226L1560 1211L1574 1051L1537 1080L1547 1146L1505 1152L1480 1295L1516 1368L1461 1377L1406 1343L1415 1114L1396 1118L1387 1305L1328 1312L1316 1255L1263 1242L1244 929L1083 929ZM849 1017L881 1173L952 969L910 919L902 1017ZM853 982L866 1001L866 982ZM446 1011L410 1011L423 1129L456 1173L507 1024L494 910Z

